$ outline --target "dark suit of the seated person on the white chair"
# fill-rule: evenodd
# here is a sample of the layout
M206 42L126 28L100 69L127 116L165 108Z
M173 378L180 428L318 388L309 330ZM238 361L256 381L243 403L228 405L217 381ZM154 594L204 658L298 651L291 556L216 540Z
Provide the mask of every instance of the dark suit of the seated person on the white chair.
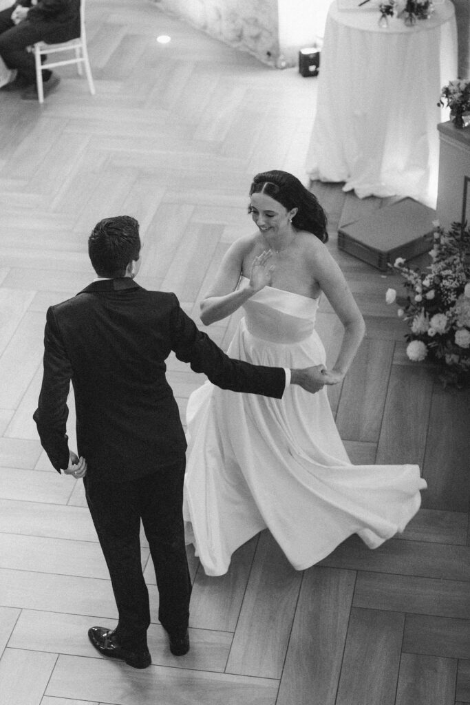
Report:
M15 25L11 13L18 5L30 8L25 20ZM36 80L35 57L27 47L36 42L57 44L80 37L80 0L20 0L0 12L0 56L8 68L16 68L27 82Z

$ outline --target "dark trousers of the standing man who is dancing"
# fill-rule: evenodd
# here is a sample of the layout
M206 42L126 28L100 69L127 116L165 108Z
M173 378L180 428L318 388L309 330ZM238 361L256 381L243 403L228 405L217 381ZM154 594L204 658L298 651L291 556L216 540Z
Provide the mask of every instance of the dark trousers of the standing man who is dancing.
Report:
M185 460L130 482L92 482L87 503L108 565L119 613L116 636L130 651L147 649L149 592L140 559L140 520L159 589L159 620L187 629L191 596L183 527Z

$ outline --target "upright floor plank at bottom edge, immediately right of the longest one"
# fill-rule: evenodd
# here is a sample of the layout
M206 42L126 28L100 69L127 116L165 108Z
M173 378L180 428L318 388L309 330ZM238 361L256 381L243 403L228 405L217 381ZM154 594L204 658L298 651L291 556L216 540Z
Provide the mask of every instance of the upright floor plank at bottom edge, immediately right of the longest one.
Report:
M403 625L400 613L351 610L336 705L395 704Z

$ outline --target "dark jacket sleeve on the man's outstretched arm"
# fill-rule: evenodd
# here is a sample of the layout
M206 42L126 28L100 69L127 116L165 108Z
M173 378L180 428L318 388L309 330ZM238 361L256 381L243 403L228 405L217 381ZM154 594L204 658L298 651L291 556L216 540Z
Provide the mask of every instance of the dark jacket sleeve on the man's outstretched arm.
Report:
M263 367L228 357L206 333L199 331L173 296L171 348L178 360L189 362L193 372L204 372L213 384L222 389L278 399L283 396L285 372L282 368Z

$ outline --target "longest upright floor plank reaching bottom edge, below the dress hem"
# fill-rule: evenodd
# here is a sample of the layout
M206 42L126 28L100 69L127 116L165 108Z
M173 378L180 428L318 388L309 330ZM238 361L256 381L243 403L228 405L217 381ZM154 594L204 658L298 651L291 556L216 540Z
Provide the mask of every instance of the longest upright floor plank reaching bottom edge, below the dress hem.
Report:
M277 705L334 705L356 574L304 572Z

